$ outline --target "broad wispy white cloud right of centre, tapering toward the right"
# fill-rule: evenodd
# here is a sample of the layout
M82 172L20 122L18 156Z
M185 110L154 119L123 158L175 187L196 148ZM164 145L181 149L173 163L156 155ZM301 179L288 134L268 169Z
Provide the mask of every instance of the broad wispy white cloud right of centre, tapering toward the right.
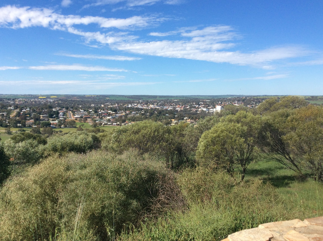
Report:
M190 27L167 33L150 33L152 36L162 37L175 34L179 34L183 39L116 43L111 46L130 53L215 63L254 65L263 69L273 69L274 67L268 63L276 60L309 54L309 51L301 46L278 46L249 53L227 51L226 49L236 47L235 41L241 38L240 34L235 33L234 29L227 25L208 26L202 29Z

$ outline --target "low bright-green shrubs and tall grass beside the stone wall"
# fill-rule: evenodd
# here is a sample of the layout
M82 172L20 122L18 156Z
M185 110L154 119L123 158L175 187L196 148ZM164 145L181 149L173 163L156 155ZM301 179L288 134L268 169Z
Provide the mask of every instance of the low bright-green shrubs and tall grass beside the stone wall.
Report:
M240 182L207 169L178 175L187 209L147 222L120 240L222 240L236 231L291 216L275 188L262 181Z

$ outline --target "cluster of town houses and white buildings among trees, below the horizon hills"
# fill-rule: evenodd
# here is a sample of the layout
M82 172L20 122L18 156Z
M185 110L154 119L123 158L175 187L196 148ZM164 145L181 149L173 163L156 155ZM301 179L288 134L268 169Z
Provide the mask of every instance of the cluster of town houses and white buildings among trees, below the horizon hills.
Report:
M103 100L1 99L0 118L7 124L10 118L16 118L16 122L11 120L10 123L14 123L17 127L32 127L41 121L51 121L54 126L57 123L60 125L70 120L89 122L90 124L97 123L98 125L122 125L131 124L137 116L141 117L138 120L143 120L158 113L158 117L162 115L159 120L168 121L169 124L176 124L179 121L195 123L197 118L193 120L193 115L220 112L229 104L254 108L260 102L262 101L259 99L255 100L249 97L212 100L129 100L108 103L103 103Z

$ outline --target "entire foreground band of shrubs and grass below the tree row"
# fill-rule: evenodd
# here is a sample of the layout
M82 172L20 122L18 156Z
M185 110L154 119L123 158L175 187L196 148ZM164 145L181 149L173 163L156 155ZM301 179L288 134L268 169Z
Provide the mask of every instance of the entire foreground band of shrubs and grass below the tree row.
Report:
M205 168L173 173L148 154L54 155L0 191L0 240L221 240L261 223L323 215L323 185L276 163L245 181Z

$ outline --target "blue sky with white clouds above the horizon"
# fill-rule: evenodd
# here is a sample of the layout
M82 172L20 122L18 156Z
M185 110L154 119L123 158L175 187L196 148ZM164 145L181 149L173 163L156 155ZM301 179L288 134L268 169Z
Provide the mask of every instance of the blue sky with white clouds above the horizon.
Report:
M322 95L322 20L322 0L2 0L0 93Z

